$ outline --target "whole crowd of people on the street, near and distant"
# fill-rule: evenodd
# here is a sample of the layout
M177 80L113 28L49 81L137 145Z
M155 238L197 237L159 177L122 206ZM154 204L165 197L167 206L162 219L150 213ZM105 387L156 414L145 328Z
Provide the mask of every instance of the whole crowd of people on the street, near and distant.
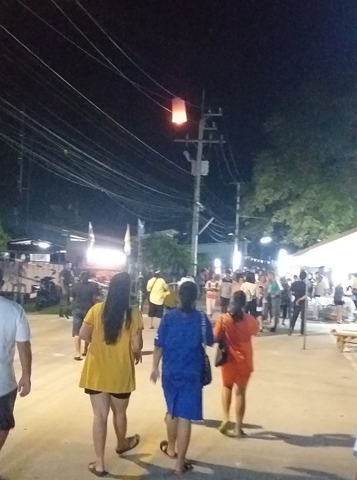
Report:
M85 272L84 272L85 273ZM237 272L226 270L221 278L212 274L204 285L187 274L178 282L178 305L174 291L154 272L147 282L150 327L160 319L154 340L150 380L156 383L162 362L162 389L166 401L165 424L167 438L159 448L175 461L174 473L183 474L193 467L186 458L190 442L191 421L202 420L202 389L211 381L211 369L205 347L219 345L222 379L222 434L243 438L245 392L253 371L251 338L262 328L269 316L276 331L280 310L282 320L290 316L289 334L298 314L304 315L306 272L289 282L278 279L274 272ZM2 271L0 270L0 285ZM90 285L90 286L88 286ZM200 288L202 286L202 289ZM322 292L315 288L315 294ZM105 301L96 298L95 284L81 274L70 298L77 301L73 313L73 336L77 354L85 357L79 387L88 395L93 411L92 436L95 460L88 469L95 476L107 475L105 469L105 440L110 410L116 433L118 455L135 448L140 442L138 433L127 436L126 410L135 390L135 365L141 361L143 319L137 306L130 302L131 279L127 272L116 273L110 280ZM197 298L205 291L207 314L200 311ZM317 293L316 293L317 291ZM338 293L338 291L337 291ZM171 304L165 299L171 297ZM212 328L209 318L220 298L221 313ZM84 301L85 300L85 301ZM214 301L213 301L214 300ZM168 303L170 303L170 301ZM336 297L336 302L338 299ZM338 304L338 303L336 303ZM165 313L163 310L165 308ZM14 426L13 407L17 392L25 396L30 391L31 348L29 327L20 305L0 297L0 348L4 352L0 369L0 449ZM303 321L301 321L303 332ZM80 352L80 341L85 351ZM22 375L16 384L13 357L17 345ZM77 346L79 345L79 351ZM217 353L218 353L217 350ZM229 430L229 414L235 399L235 427Z

